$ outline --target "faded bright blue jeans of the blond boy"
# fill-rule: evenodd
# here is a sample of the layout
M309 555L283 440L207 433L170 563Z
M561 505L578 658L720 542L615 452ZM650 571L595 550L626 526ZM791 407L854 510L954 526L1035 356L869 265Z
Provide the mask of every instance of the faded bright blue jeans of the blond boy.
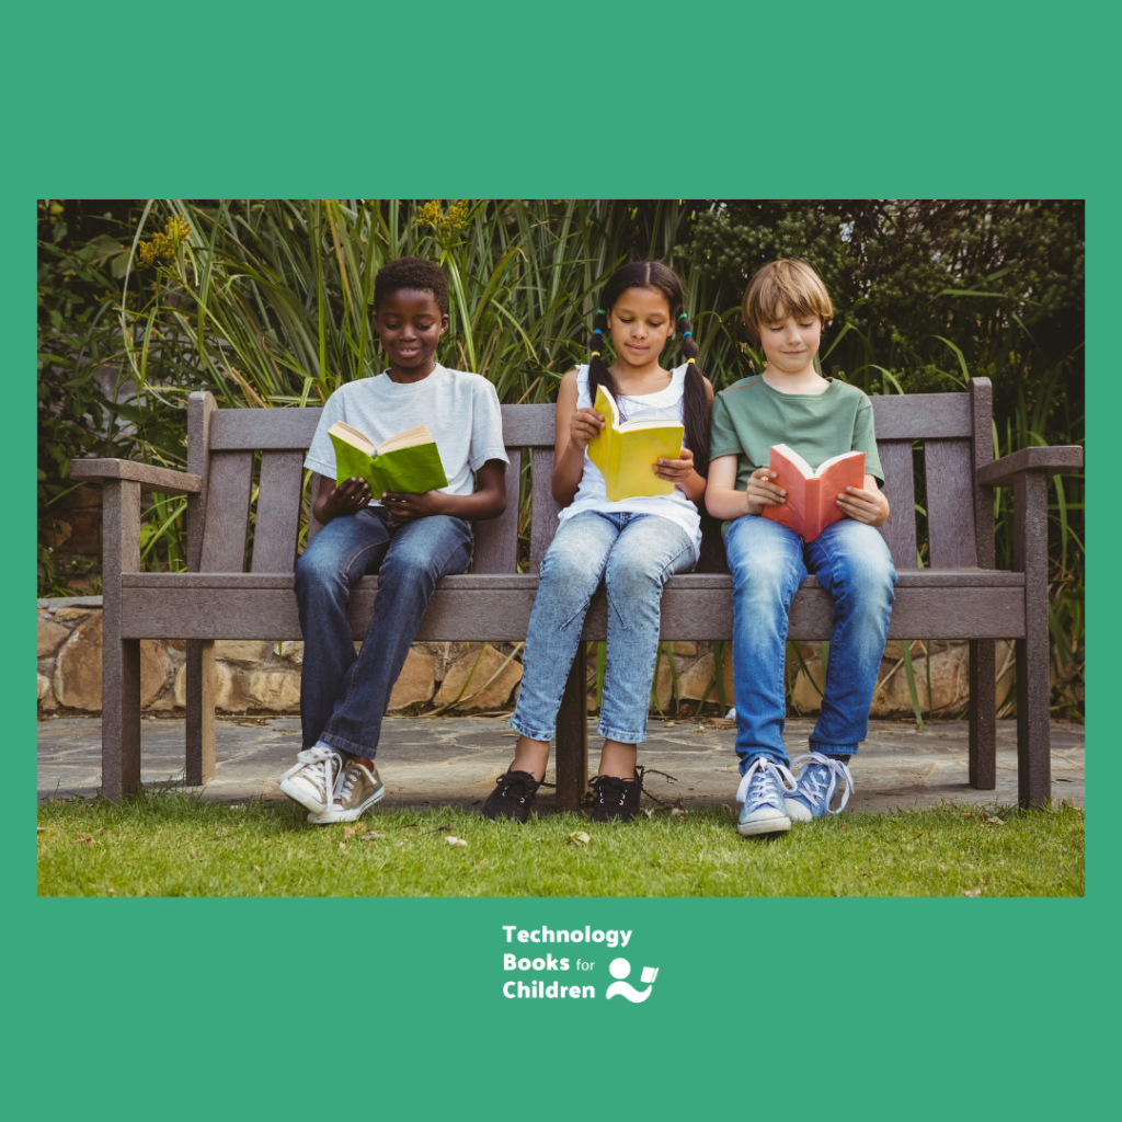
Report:
M736 752L743 775L766 756L787 766L783 671L787 615L808 572L834 597L834 629L821 714L812 752L852 755L868 734L892 615L896 571L884 539L852 518L831 523L812 542L753 515L737 518L725 537L733 571L733 686Z

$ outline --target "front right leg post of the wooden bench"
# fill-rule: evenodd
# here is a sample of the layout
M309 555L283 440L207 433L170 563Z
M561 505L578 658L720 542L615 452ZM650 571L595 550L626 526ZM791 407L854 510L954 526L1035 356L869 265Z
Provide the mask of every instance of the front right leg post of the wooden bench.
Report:
M1017 641L1017 787L1022 807L1051 798L1051 683L1048 675L1048 477L1013 485L1013 568L1024 573L1024 638Z

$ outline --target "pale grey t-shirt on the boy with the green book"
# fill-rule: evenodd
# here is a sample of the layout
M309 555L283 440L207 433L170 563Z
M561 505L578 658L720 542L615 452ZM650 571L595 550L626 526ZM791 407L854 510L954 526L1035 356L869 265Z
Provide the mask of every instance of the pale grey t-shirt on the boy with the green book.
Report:
M421 381L397 383L388 374L341 386L323 406L304 467L335 478L335 450L328 435L346 421L376 444L426 424L436 441L448 486L445 495L470 495L475 472L488 460L509 461L503 447L503 414L495 387L478 374L438 366ZM375 504L377 505L377 504Z

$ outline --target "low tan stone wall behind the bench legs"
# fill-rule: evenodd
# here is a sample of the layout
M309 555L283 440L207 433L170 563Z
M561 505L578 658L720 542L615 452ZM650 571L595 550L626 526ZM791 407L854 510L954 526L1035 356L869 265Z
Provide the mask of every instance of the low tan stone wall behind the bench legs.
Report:
M101 710L101 597L38 601L38 696L44 716L93 714ZM357 644L358 646L358 644ZM715 656L709 643L671 644L660 660L657 697L662 711L673 709L677 674L680 701L700 701L714 679ZM186 644L178 640L140 643L140 692L142 707L150 714L182 714L185 703ZM789 680L793 681L792 709L818 712L821 697L821 646L799 645L802 663L789 654ZM509 708L522 679L521 652L509 657L509 644L416 643L394 686L390 711L424 712L449 707L457 711L496 711ZM218 672L218 708L226 714L300 711L300 674L304 644L259 641L218 641L214 644ZM592 663L590 662L590 674ZM733 703L732 650L726 644L723 678L725 698ZM969 645L931 644L931 698L928 698L927 659L923 645L912 644L912 669L920 706L940 716L965 709L969 697ZM997 644L997 705L1010 696L1013 684L1011 643ZM873 699L874 717L908 717L912 712L908 678L899 642L889 642ZM459 698L459 700L457 700ZM590 681L589 707L595 707ZM717 700L717 691L708 695ZM653 707L652 707L653 709Z

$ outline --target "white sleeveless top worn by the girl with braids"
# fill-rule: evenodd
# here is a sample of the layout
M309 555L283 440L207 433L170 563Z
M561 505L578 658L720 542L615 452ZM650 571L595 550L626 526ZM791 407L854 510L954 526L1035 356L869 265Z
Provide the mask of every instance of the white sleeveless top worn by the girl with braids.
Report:
M653 417L666 417L683 421L682 390L686 386L687 366L675 367L671 371L670 385L656 394L624 395L619 406L628 421L644 421ZM588 367L577 368L577 408L591 407L588 395ZM606 514L657 514L670 518L686 531L687 537L693 542L693 562L697 563L701 553L701 516L697 507L678 487L669 495L640 495L635 498L624 498L618 503L609 503L604 476L600 469L589 459L585 451L585 473L580 477L580 487L569 506L564 507L558 519L565 522L573 515L585 511L601 511Z

